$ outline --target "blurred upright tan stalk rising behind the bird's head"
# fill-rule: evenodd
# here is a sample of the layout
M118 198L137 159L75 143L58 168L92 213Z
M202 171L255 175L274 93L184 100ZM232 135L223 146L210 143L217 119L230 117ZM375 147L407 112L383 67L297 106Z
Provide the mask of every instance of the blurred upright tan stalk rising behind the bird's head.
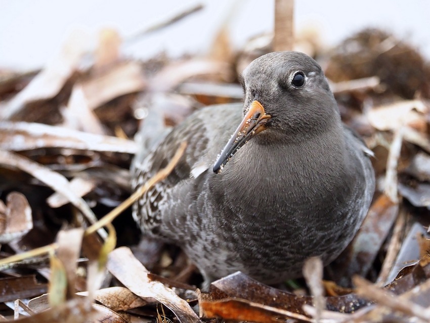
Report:
M291 51L294 45L293 37L294 0L275 1L275 35L273 50Z

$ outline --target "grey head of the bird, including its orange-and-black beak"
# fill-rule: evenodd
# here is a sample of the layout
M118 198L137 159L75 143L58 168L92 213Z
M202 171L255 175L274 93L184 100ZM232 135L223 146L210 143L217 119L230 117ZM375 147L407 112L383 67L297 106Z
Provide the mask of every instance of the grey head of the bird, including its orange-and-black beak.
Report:
M261 56L243 71L242 85L244 118L214 164L215 173L254 136L305 140L340 123L324 73L306 54Z

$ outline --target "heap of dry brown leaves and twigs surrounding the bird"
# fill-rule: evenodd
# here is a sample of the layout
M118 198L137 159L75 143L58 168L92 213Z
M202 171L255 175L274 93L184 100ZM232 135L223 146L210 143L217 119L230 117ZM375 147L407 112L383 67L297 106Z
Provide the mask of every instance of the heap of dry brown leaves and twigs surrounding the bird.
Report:
M276 19L292 19L292 1L276 3L289 8ZM129 207L168 175L186 143L129 197L133 156L194 110L241 102L236 70L292 47L292 35L276 31L236 50L223 25L207 55L121 54L125 43L201 8L125 40L111 28L96 44L72 32L38 71L0 66L0 320L430 320L430 64L388 31L365 29L328 51L309 35L295 39L327 62L343 121L375 155L372 206L335 261L323 269L312 258L305 279L276 287L238 272L203 293L177 246L142 238ZM277 21L277 30L290 23Z

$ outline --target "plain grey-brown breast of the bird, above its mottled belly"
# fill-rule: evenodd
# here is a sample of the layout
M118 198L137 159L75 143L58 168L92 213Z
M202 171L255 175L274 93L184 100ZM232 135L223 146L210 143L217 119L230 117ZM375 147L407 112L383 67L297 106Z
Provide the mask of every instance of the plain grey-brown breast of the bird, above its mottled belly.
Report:
M348 199L341 156L300 146L246 144L221 174L210 178L214 213L222 221L259 221L266 226L317 224ZM329 220L329 219L327 219Z

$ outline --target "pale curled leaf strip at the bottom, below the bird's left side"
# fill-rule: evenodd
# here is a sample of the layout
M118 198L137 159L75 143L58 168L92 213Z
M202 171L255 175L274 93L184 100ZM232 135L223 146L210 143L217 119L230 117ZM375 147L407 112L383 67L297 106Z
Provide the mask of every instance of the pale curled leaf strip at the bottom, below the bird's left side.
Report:
M128 289L143 298L154 298L164 304L178 317L179 321L200 322L200 319L186 301L159 281L151 281L148 270L137 260L127 247L120 247L109 254L108 270Z

